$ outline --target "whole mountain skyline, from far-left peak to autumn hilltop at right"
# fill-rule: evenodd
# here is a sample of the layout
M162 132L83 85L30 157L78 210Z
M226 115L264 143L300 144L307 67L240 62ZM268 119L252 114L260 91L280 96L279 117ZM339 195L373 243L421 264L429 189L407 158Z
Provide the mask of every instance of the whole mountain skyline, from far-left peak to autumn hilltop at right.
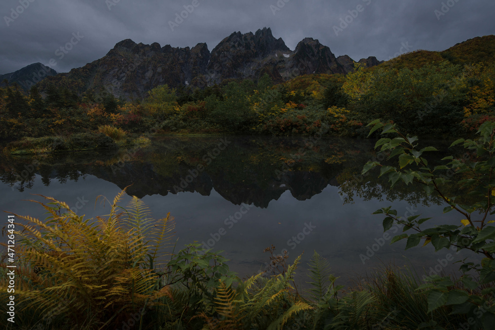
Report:
M425 63L448 60L454 64L493 62L495 36L476 37L444 51L417 50L403 54L387 64L400 69L415 68ZM376 57L358 63L367 67L382 64ZM68 73L57 74L41 64L0 75L0 82L18 83L25 90L38 83L46 91L54 84L77 94L107 92L125 99L141 99L159 85L172 88L193 86L204 88L231 79L251 79L268 74L274 83L281 83L304 74L347 74L354 70L354 60L347 55L336 57L318 40L305 38L295 50L282 38L276 39L270 28L255 33L232 33L211 51L204 43L195 47L161 47L136 44L130 39L115 45L105 56Z

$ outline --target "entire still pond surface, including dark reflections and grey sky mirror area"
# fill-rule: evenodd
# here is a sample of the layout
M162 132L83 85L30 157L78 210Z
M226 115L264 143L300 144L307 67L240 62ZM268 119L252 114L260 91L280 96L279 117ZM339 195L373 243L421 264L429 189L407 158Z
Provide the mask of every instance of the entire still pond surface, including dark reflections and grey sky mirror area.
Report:
M444 152L434 161L448 145L435 143ZM94 217L108 210L95 203L97 196L113 199L127 187L125 203L137 196L155 218L168 212L175 218L176 249L198 241L224 250L241 277L265 268L263 250L272 244L278 253L286 249L290 262L303 254L299 274L317 251L342 283L390 263L420 275L457 269L443 259L464 254L435 253L431 244L404 251L405 241L390 245L397 228L384 237L383 217L372 215L380 207L434 217L432 224L460 218L442 214L444 205L420 187L391 189L376 173L362 178L363 165L378 157L373 146L350 139L159 137L148 147L114 153L4 157L1 210L43 219L43 209L25 201L41 194Z

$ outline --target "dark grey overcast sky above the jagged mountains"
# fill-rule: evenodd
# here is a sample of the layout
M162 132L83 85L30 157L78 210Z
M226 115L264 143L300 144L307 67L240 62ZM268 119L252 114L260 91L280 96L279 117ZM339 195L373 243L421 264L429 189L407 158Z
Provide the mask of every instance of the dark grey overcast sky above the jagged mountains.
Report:
M409 50L444 50L495 33L494 0L198 0L189 17L172 31L168 22L193 1L1 0L0 74L35 62L48 64L52 58L53 69L67 72L104 56L124 39L172 47L206 42L212 50L232 32L255 32L265 26L293 50L311 37L335 55L347 54L354 60L368 56L386 60L403 51L401 45ZM23 2L29 3L25 9L18 7ZM277 2L285 5L274 14ZM443 2L451 7L444 6L446 13L438 19L435 10L442 12ZM109 3L115 4L111 10ZM360 12L355 11L358 5ZM22 13L12 15L12 8ZM333 27L350 15L349 10L357 17L347 17L350 23L336 35ZM62 52L55 51L71 39L75 43L73 33L83 38L69 45L72 49L60 59Z

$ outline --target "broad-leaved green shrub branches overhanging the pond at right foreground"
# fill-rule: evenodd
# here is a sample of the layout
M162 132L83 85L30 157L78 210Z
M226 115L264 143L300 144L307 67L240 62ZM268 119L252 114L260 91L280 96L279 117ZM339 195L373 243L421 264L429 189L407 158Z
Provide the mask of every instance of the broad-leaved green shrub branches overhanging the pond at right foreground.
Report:
M424 228L430 218L420 215L407 219L397 217L392 207L377 210L384 214L384 231L395 223L404 225L404 233L392 239L396 242L407 239L406 249L432 244L435 251L454 246L457 250L472 251L475 262L462 261L460 270L464 273L458 280L449 276L430 276L427 283L419 286L428 292L428 313L445 306L453 308L453 314L472 318L476 329L493 329L495 324L495 123L483 123L474 140L459 139L451 146L462 143L472 159L445 157L444 164L431 166L425 156L427 152L438 151L428 146L418 149L416 137L404 136L395 125L385 125L379 120L372 122L371 132L382 130L382 134L394 134L395 138L382 138L375 148L390 152L389 160L398 161L398 166L386 166L369 162L363 174L374 167L381 167L380 176L388 175L392 186L398 181L406 185L416 182L427 194L437 194L444 201L444 213L455 210L464 219L459 223L449 222L431 228ZM446 172L447 171L447 172ZM454 185L457 189L446 189ZM451 191L463 191L452 195ZM405 233L409 232L409 233ZM412 232L412 234L410 234ZM473 277L474 274L476 277Z

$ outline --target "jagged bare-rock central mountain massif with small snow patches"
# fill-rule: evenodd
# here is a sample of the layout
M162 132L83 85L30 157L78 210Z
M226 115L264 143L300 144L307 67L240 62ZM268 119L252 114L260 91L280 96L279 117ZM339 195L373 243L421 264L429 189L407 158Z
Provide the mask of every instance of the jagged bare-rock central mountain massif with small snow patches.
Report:
M303 74L346 74L352 70L353 61L348 56L345 60L341 57L336 58L329 47L311 38L304 39L291 51L269 28L254 34L233 33L211 53L206 44L174 48L157 43L136 44L127 39L116 44L103 58L50 77L40 87L45 90L49 84L55 84L79 94L88 90L107 91L117 97L137 99L163 84L204 88L225 79L257 80L265 73L275 82ZM374 57L361 61L369 65L379 63Z

